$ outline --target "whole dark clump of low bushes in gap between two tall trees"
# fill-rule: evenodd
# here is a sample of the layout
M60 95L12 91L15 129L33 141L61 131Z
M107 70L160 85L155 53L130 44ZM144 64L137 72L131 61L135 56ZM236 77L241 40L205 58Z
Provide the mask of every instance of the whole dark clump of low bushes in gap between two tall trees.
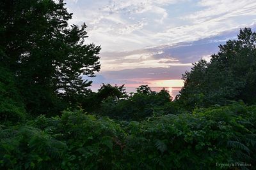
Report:
M179 106L171 102L172 97L168 90L154 92L147 85L141 85L137 88L137 92L130 95L126 94L124 85L121 87L104 85L89 99L94 103L97 99L98 101L94 109L87 110L84 106L86 111L118 120L143 120L146 117L181 112Z

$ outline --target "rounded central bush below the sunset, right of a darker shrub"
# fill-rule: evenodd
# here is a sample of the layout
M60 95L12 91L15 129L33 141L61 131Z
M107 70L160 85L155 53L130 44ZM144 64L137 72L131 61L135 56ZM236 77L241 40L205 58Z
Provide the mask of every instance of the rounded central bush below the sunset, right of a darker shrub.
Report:
M125 99L115 97L104 99L95 113L118 120L131 121L179 112L179 106L171 103L172 97L167 90L153 92L147 85L141 85L137 89L136 93Z

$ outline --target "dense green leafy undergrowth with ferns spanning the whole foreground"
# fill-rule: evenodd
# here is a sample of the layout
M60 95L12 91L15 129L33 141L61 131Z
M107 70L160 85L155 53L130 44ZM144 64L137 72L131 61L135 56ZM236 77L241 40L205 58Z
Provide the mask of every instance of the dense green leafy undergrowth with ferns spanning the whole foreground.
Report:
M141 122L83 111L0 128L4 169L220 169L255 167L256 106L233 103ZM240 167L238 167L240 168ZM228 169L228 167L223 167Z

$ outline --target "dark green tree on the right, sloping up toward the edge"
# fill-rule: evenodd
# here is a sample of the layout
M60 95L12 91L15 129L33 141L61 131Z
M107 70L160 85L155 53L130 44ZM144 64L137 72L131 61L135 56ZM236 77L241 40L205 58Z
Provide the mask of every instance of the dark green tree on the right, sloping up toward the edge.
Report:
M256 103L256 33L241 29L237 39L220 45L211 62L200 60L183 75L179 101L188 108L242 99Z

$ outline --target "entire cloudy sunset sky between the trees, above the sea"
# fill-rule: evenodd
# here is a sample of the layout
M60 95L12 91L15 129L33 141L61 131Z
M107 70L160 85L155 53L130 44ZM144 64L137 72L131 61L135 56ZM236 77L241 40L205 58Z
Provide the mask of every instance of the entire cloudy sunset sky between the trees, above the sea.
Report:
M86 23L100 45L101 83L182 87L182 73L239 28L255 31L256 0L66 0L70 24Z

